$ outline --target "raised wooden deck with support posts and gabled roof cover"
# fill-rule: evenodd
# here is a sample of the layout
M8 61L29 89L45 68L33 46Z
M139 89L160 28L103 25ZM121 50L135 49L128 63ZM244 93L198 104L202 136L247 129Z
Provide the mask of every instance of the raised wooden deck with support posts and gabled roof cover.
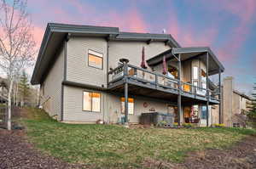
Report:
M120 59L122 63L108 72L108 90L113 93L124 93L125 121L128 121L128 93L129 95L142 95L150 98L166 99L177 104L177 122L180 125L182 105L206 105L207 126L209 105L220 103L220 78L224 67L218 62L210 48L172 48L147 60L148 65L154 65L166 59L177 61L177 79L160 74L159 72L130 65L128 59ZM207 87L195 86L189 82L181 81L181 63L188 59L201 58L207 65ZM218 74L218 86L212 90L210 75ZM219 106L220 107L220 106ZM221 108L219 108L221 109Z

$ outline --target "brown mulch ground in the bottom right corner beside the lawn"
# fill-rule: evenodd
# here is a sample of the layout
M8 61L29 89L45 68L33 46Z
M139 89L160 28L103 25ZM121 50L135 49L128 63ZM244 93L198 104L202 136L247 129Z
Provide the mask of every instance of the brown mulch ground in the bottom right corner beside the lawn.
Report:
M256 136L250 136L230 149L207 149L190 152L182 164L166 163L147 159L146 168L182 168L182 169L250 169L256 168Z

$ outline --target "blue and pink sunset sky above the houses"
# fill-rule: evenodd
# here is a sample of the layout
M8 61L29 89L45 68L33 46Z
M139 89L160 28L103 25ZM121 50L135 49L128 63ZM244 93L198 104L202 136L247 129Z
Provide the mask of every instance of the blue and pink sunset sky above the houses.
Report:
M27 9L38 46L49 22L165 29L182 47L212 48L241 92L256 82L256 0L28 0Z

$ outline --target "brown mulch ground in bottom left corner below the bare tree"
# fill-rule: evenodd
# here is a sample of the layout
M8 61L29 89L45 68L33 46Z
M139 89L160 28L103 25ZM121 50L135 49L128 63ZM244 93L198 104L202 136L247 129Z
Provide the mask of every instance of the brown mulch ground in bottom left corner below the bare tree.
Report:
M0 129L0 168L82 168L42 155L26 141L21 130Z

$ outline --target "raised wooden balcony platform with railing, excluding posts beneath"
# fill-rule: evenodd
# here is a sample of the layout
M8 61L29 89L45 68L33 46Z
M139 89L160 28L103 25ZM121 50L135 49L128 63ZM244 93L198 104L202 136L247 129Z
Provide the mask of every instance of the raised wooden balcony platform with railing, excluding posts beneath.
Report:
M125 72L127 72L127 78L125 78ZM180 91L183 104L206 104L207 102L206 88L196 87L155 71L128 64L126 68L124 65L119 65L108 72L108 89L110 91L123 93L125 81L129 84L129 94L131 95L168 99L177 103L177 95ZM219 104L218 93L210 89L208 91L209 104Z

